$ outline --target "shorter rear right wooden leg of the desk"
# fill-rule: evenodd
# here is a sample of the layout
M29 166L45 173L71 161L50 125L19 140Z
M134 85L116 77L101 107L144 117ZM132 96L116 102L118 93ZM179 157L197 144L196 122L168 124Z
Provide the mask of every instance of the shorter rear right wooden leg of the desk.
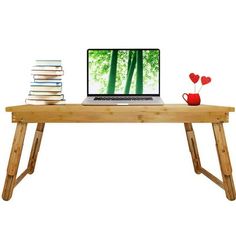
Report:
M197 174L201 174L201 161L198 153L197 142L193 131L193 126L191 123L184 123L189 151L193 160L193 167Z

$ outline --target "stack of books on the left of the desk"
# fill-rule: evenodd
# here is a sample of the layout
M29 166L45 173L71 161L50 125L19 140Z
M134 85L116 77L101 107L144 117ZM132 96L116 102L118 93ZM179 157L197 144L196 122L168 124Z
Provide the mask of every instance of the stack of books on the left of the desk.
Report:
M64 104L62 94L62 76L64 74L61 60L36 60L31 74L30 92L26 104L51 105Z

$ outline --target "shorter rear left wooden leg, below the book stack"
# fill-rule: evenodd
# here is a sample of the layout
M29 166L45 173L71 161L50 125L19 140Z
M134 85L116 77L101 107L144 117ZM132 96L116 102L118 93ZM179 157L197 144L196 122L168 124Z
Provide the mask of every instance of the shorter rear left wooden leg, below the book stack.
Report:
M37 156L38 156L38 152L39 152L39 148L40 148L40 144L41 144L41 140L43 136L44 126L45 126L44 123L38 123L36 131L35 131L34 141L32 144L30 158L29 158L28 167L27 167L29 174L34 173Z

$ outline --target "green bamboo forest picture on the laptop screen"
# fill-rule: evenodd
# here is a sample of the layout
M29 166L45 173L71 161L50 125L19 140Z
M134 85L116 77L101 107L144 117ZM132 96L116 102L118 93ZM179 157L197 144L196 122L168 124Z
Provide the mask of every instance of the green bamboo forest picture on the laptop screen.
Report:
M89 50L89 94L158 94L159 50Z

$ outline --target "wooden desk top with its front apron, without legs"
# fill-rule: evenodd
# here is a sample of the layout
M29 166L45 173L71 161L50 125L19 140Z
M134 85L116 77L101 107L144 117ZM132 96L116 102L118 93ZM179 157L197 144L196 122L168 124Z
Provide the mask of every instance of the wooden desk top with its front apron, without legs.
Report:
M163 106L83 106L20 105L7 107L12 112L12 122L63 123L63 122L173 122L218 123L228 122L234 107L188 106L166 104Z

